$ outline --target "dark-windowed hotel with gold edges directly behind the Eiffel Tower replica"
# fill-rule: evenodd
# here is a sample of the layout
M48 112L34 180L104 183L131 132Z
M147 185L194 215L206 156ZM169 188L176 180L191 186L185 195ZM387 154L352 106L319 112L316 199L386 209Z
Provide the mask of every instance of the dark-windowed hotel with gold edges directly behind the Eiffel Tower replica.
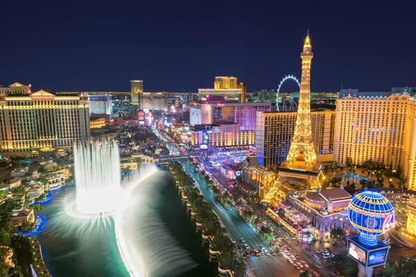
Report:
M296 111L257 112L256 156L261 166L278 166L286 160L296 125ZM311 111L311 125L318 161L333 160L336 112Z

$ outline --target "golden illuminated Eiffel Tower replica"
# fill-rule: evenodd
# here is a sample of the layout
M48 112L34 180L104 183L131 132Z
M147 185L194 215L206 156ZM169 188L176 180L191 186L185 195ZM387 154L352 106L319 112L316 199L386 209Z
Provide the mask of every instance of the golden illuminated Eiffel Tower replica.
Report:
M279 176L270 186L262 202L276 204L288 190L303 190L320 187L324 174L317 161L311 130L311 61L313 58L311 39L306 36L302 58L302 80L300 82L299 105L295 133L291 148L284 163L279 166Z

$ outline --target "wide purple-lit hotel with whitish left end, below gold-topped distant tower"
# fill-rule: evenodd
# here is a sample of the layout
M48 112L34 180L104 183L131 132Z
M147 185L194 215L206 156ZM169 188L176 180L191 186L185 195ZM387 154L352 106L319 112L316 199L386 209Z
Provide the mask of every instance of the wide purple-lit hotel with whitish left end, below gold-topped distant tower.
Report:
M256 129L257 111L270 111L270 103L189 102L190 125L235 122L241 130Z

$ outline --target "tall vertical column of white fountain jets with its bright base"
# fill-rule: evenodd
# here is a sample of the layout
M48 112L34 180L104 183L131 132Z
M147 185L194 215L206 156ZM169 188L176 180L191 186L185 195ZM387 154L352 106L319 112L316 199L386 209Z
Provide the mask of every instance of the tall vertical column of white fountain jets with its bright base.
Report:
M73 146L76 202L69 215L106 217L128 205L121 188L119 147L114 143L76 143Z

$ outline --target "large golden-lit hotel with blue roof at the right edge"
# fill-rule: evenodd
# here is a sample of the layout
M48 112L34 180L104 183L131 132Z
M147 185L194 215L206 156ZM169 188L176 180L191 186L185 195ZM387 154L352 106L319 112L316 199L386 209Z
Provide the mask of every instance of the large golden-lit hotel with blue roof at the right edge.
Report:
M401 168L416 190L415 88L391 92L342 89L336 102L334 159L361 164L371 159Z

